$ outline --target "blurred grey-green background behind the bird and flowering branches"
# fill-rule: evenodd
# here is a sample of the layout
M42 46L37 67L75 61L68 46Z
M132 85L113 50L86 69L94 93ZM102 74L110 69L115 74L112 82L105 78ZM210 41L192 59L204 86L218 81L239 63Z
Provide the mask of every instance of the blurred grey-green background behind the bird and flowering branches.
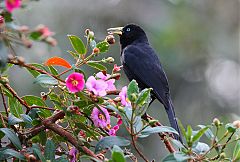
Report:
M26 62L37 63L51 56L73 63L66 52L71 49L67 34L83 38L85 29L90 28L96 40L102 40L109 27L139 24L159 54L177 117L185 126L210 124L215 117L229 122L240 118L238 0L41 0L14 15L22 25L34 28L41 23L56 33L57 47L35 43L30 50L16 48ZM118 43L103 57L108 56L120 65ZM128 84L122 76L118 88ZM22 96L42 91L19 67L10 71L10 82ZM158 101L148 113L169 125ZM166 155L157 135L140 140L139 146L150 159L159 161Z

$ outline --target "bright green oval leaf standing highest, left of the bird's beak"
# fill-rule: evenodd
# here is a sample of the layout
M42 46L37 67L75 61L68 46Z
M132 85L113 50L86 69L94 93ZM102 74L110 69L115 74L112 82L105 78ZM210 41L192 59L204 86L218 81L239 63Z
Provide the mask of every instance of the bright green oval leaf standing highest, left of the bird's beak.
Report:
M85 54L86 53L86 48L85 45L83 43L83 41L75 36L75 35L68 35L68 38L72 44L72 47L74 48L74 50L79 53L79 54Z

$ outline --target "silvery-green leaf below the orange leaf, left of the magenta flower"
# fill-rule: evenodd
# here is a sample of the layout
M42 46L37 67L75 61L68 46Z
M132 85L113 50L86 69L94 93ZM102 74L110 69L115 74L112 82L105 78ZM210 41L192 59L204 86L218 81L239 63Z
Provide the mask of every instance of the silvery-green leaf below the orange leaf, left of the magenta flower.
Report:
M42 87L51 87L58 84L58 81L46 74L40 74L33 83L40 84Z

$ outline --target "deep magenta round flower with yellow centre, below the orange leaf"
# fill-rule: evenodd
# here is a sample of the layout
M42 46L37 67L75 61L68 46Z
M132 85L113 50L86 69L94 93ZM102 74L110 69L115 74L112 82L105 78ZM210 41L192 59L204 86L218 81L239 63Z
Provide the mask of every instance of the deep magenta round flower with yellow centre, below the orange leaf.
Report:
M81 73L72 73L66 79L66 86L70 92L79 92L84 88L84 76Z

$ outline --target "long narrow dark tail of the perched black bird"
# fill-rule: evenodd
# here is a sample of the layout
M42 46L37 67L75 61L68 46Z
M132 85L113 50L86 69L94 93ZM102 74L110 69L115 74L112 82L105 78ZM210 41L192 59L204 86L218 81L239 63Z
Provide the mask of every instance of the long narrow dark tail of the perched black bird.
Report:
M179 136L177 134L174 134L174 138L182 142L182 136L181 136L181 132L180 132L180 129L179 129L179 126L178 126L178 122L177 122L177 118L176 118L176 115L175 115L172 100L169 99L168 104L165 105L164 107L166 109L171 127L173 127L179 133Z

